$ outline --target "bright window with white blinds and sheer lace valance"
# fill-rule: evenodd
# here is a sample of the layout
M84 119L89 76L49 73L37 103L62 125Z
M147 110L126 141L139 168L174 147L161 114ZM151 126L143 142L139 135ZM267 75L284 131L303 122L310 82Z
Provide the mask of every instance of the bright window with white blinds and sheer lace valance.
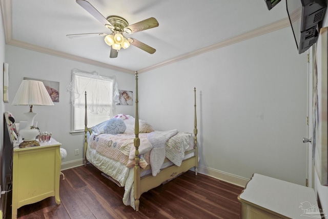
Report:
M113 117L115 104L119 103L115 77L101 76L97 72L73 69L69 90L72 102L72 133L84 131L85 128L85 92L88 127Z

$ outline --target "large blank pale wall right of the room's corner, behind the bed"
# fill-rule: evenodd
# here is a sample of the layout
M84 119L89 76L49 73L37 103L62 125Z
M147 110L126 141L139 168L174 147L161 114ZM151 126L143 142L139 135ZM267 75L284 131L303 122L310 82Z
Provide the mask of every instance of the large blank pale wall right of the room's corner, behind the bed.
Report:
M290 28L261 35L140 74L140 117L192 132L195 86L200 171L305 185L306 66Z

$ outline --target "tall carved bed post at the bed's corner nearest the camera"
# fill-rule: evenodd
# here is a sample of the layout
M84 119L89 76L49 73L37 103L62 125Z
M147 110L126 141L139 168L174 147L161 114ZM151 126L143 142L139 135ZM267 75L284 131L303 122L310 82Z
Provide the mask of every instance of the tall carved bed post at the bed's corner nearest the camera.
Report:
M134 165L134 199L135 210L139 211L139 198L141 196L140 191L140 167L139 167L139 113L138 113L138 72L135 72L135 122L134 122L134 147L135 147L135 165Z

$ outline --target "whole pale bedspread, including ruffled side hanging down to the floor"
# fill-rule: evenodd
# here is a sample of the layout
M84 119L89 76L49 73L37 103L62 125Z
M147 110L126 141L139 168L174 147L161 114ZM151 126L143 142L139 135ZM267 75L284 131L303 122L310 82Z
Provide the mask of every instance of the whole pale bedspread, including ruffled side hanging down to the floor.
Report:
M134 138L135 135L133 134L91 134L88 141L87 158L93 165L112 176L121 186L125 187L123 203L131 205L135 209L134 170L132 168L135 164ZM172 164L180 166L183 159L192 156L192 154L185 156L185 151L194 148L191 133L177 132L176 130L155 131L139 133L139 138L139 166L145 168L150 163L153 175L160 171L157 167L165 168ZM160 158L160 163L155 164L157 167L154 168L156 161L150 159L150 154L153 152L160 153L160 157L166 156L172 163L163 164L162 158ZM112 162L105 161L106 157ZM115 161L116 163L113 163ZM148 174L146 172L142 173Z

